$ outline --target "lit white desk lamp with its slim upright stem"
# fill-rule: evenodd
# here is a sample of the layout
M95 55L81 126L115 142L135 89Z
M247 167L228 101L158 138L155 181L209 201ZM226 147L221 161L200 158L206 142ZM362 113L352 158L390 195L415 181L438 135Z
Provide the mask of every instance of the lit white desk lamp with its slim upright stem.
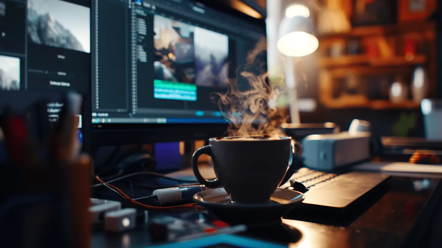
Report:
M297 104L293 57L303 57L318 49L319 41L313 35L310 10L304 4L291 4L286 8L279 26L277 47L285 56L286 86L289 90L290 117L292 123L300 123Z

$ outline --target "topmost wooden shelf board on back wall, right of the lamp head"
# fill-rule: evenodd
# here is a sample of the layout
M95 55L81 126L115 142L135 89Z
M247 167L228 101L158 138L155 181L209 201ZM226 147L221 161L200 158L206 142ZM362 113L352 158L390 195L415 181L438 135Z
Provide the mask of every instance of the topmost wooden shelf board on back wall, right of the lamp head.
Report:
M434 22L414 22L414 23L400 23L394 25L385 26L366 26L366 27L354 27L348 33L335 33L320 35L319 40L324 39L336 39L336 38L352 38L362 36L385 36L398 33L407 32L423 32L427 30L435 29Z

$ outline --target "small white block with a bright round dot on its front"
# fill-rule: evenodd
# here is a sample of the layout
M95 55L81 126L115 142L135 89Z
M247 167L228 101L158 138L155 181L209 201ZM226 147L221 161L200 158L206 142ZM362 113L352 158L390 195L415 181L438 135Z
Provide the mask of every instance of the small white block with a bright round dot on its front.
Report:
M137 209L127 208L107 212L104 215L104 229L107 232L121 232L136 225Z

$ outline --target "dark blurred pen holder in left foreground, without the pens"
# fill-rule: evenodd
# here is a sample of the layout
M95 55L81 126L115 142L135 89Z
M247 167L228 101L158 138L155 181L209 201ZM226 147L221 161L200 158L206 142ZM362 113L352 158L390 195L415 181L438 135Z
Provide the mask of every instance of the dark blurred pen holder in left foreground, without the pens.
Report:
M11 247L90 245L89 166L0 164L0 238ZM15 244L15 245L13 245Z

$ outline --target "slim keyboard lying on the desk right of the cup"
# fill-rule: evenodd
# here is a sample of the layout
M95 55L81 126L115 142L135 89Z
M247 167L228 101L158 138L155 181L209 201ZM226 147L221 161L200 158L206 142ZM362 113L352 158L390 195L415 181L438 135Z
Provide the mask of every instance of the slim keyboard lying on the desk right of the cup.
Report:
M358 200L380 189L391 176L379 173L326 173L301 168L281 186L305 194L301 208L345 212Z

